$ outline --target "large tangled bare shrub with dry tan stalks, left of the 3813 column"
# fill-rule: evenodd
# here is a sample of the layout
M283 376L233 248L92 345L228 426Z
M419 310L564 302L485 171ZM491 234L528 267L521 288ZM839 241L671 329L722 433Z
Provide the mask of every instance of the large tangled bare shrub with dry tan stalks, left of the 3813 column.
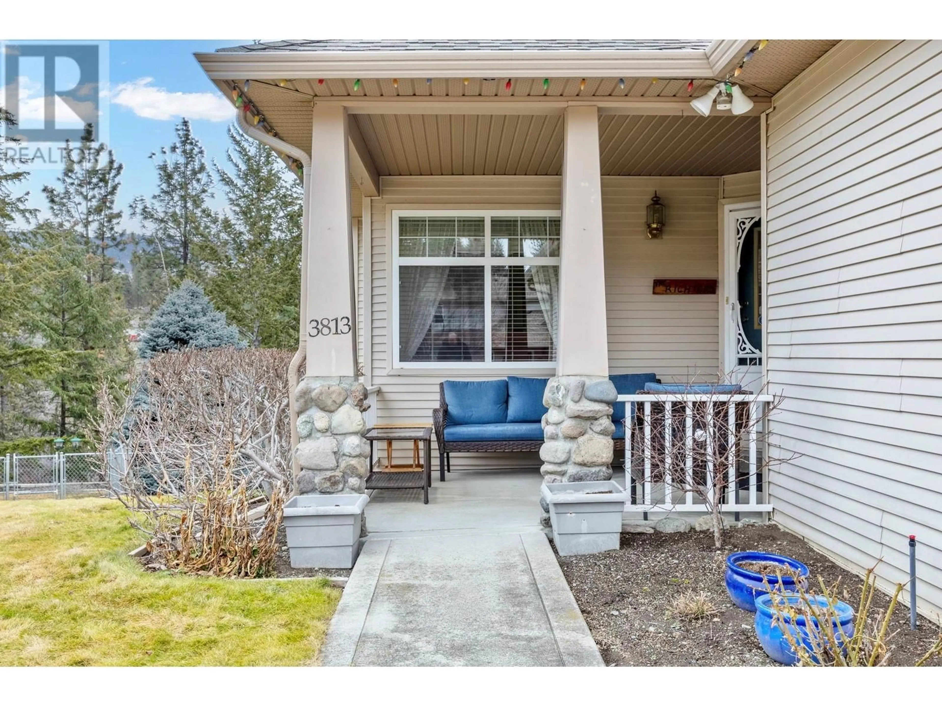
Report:
M291 490L292 353L183 350L141 361L123 403L103 385L103 453L122 446L120 497L156 567L270 571Z

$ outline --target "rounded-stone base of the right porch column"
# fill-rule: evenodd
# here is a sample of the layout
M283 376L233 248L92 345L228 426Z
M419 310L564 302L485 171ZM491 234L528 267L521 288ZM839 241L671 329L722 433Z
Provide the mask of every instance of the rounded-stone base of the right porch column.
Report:
M614 442L611 404L618 397L608 377L552 377L546 384L543 404L544 442L540 473L544 483L609 480ZM549 524L549 508L541 521Z

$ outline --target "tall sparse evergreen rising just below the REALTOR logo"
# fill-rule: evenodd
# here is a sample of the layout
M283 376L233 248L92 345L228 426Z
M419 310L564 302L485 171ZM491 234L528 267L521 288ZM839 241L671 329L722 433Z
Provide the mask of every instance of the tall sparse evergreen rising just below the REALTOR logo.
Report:
M58 226L72 231L88 255L89 284L111 279L115 260L110 253L127 245L127 234L119 231L122 212L115 207L124 166L92 136L91 125L86 125L77 149L66 140L60 188L42 187Z

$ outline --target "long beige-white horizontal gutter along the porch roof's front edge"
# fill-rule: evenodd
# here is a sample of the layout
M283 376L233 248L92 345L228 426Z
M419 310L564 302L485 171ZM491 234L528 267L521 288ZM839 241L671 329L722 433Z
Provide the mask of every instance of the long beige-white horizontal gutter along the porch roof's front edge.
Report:
M665 51L349 51L196 54L213 79L428 78L465 76L715 78L750 40L707 50ZM739 56L741 58L741 56Z

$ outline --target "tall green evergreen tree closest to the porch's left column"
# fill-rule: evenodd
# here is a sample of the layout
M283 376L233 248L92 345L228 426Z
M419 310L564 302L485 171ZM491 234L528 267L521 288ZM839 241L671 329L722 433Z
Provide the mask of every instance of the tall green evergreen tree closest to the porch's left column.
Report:
M251 345L298 344L303 189L266 145L229 128L231 170L215 165L228 215L200 241L206 292ZM246 292L255 296L246 297Z

